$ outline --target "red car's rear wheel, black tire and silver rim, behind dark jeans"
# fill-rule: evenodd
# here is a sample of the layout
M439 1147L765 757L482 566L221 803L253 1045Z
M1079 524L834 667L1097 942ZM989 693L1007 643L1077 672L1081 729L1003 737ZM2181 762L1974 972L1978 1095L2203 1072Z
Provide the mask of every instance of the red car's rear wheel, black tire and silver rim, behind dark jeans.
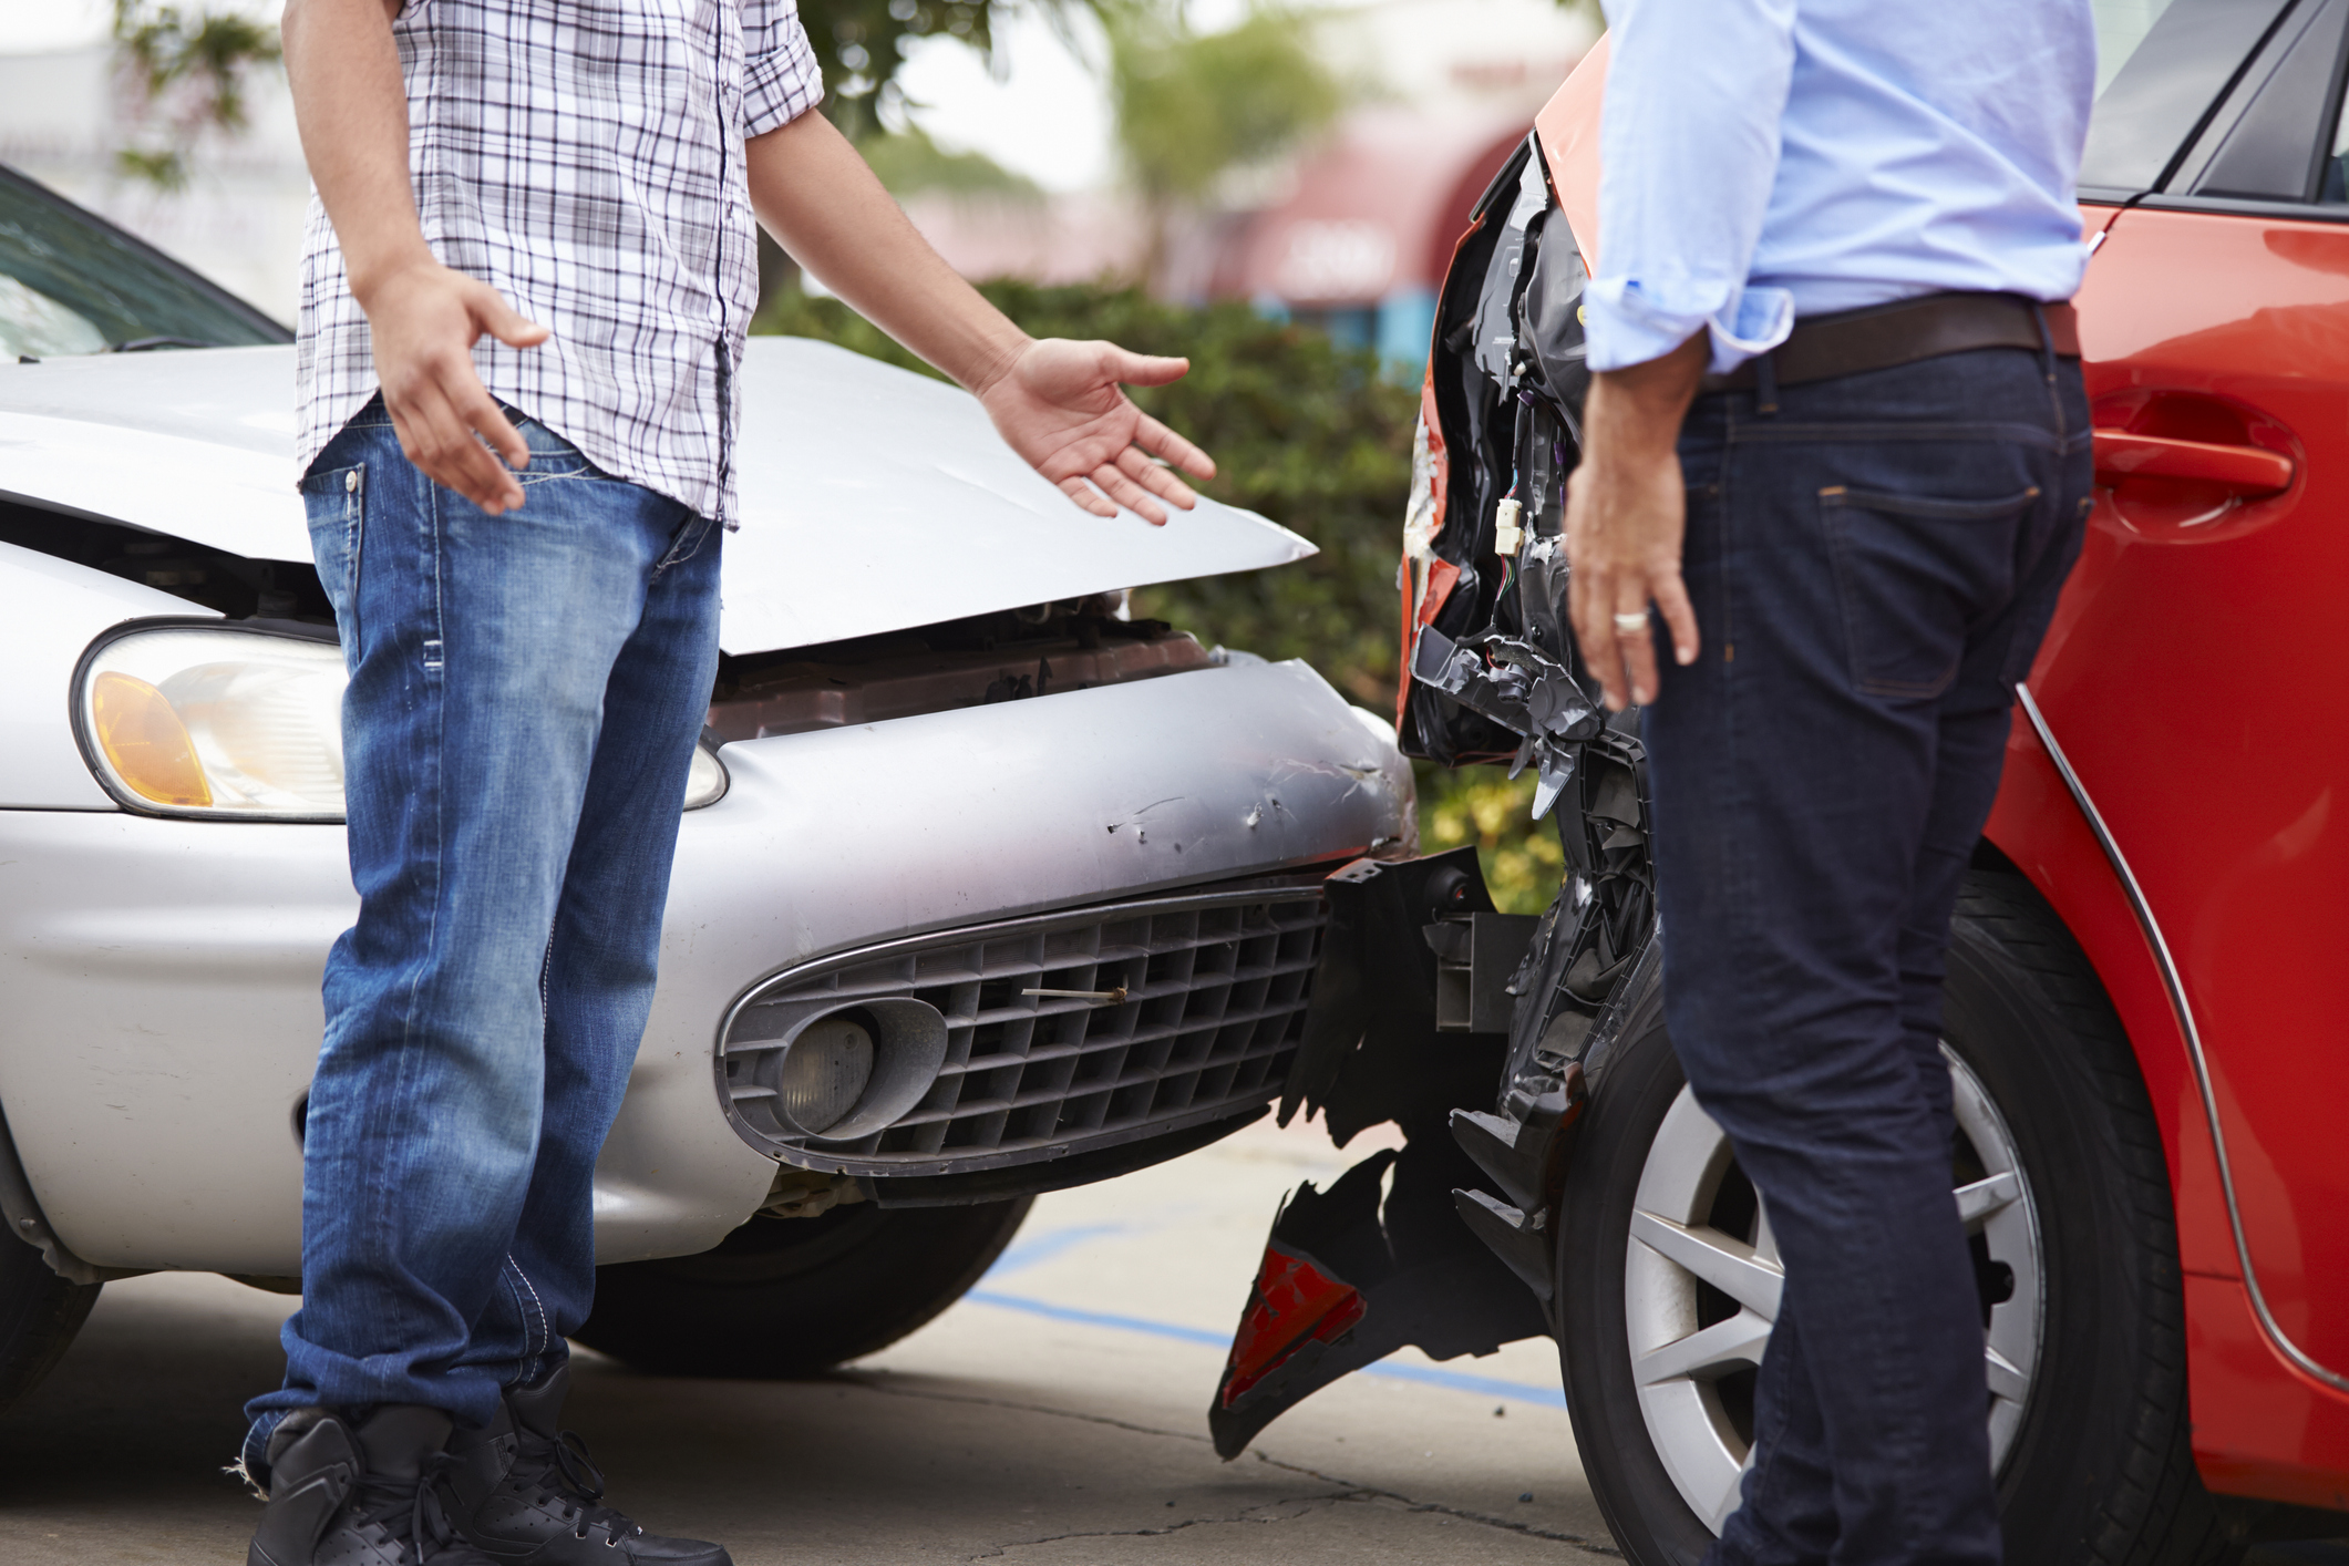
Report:
M1590 1489L1640 1566L1736 1507L1776 1263L1752 1183L1640 995L1567 1169L1560 1352ZM2168 1169L2128 1038L2018 876L1971 876L1943 1007L1952 1190L1983 1289L2011 1566L2239 1550L2194 1472ZM1741 1298L1743 1296L1743 1298Z

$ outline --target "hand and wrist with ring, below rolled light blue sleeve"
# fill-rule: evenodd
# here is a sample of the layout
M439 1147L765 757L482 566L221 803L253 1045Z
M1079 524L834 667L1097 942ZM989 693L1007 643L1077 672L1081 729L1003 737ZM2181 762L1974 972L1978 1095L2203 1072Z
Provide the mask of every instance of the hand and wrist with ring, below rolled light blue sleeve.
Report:
M1567 592L1574 641L1609 711L1656 700L1649 601L1672 632L1675 657L1696 662L1696 608L1680 580L1680 420L1705 376L1705 352L1698 331L1661 359L1593 376L1583 401L1583 460L1567 479Z

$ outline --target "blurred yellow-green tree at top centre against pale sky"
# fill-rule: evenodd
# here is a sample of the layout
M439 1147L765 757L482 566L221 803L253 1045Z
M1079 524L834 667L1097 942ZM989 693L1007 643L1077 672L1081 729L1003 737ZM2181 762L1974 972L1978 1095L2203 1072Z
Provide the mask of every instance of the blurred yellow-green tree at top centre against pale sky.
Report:
M1144 277L1156 279L1177 211L1320 131L1346 92L1290 12L1254 9L1224 33L1193 33L1179 5L1118 5L1102 21L1118 155L1149 214Z

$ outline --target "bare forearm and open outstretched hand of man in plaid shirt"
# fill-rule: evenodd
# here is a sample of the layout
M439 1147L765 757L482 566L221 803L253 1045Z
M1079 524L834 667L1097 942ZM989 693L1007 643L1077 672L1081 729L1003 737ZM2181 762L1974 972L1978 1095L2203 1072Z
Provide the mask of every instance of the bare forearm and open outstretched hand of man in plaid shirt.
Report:
M749 197L768 232L864 319L977 392L996 432L1095 517L1149 521L1193 505L1151 458L1212 479L1207 453L1137 409L1123 385L1165 385L1189 362L1116 343L1034 340L956 277L855 148L820 113L749 141Z

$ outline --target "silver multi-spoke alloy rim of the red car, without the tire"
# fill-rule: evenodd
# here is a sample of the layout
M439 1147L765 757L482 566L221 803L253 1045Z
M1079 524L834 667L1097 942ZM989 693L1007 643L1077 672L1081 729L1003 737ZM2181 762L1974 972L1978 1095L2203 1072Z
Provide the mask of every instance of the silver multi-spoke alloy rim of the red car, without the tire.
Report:
M1990 1308L1985 1341L1997 1470L2015 1444L2039 1366L2039 1216L2013 1132L1980 1078L1947 1045L1943 1054L1957 1127L1973 1155L1961 1157L1971 1167L1959 1176L1957 1209L1966 1233L1990 1247L1990 1261L2013 1273L2013 1289ZM1731 1165L1729 1139L1682 1087L1640 1172L1623 1258L1640 1413L1682 1500L1715 1533L1738 1505L1738 1474L1750 1458L1750 1373L1762 1364L1785 1277L1769 1214L1743 1176L1731 1179Z

